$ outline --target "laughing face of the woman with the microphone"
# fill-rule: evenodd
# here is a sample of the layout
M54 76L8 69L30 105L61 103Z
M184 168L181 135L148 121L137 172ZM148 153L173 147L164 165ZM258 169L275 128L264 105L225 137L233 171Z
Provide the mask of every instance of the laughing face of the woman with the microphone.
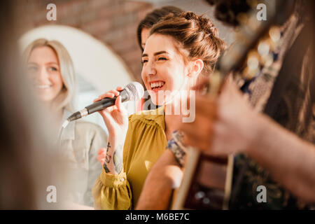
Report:
M169 102L172 97L166 94L166 97L160 98L158 102L159 91L174 92L187 88L185 79L188 78L188 67L172 36L162 34L149 36L142 55L142 64L141 76L155 105Z

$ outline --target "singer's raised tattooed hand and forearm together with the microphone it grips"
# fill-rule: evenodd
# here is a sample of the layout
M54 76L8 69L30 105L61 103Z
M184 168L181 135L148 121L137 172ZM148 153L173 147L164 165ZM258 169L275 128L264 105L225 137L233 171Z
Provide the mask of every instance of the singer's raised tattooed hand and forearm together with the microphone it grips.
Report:
M128 84L125 89L117 87L94 99L94 104L73 113L62 126L98 111L109 130L109 138L106 148L99 150L97 160L102 163L106 173L119 174L123 169L123 143L128 127L128 114L122 103L141 99L143 95L144 87L137 82Z

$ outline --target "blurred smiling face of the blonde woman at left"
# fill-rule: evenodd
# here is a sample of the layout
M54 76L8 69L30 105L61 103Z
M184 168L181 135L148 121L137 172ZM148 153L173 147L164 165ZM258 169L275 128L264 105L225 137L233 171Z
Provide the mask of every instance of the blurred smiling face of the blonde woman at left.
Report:
M27 62L27 73L38 97L43 102L52 102L62 90L59 61L55 51L48 46L31 51Z

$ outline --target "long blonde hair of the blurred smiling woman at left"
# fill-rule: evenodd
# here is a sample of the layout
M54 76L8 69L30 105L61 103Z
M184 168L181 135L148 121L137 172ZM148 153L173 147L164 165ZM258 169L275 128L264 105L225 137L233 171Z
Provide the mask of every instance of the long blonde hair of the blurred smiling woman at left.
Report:
M60 67L60 74L62 76L63 87L61 92L52 102L52 105L55 106L57 110L66 109L73 112L73 97L76 92L76 77L73 68L73 62L69 55L69 52L64 48L62 43L59 41L48 41L45 38L39 38L31 42L23 53L23 58L25 64L29 60L31 52L35 48L40 47L49 47L55 51Z

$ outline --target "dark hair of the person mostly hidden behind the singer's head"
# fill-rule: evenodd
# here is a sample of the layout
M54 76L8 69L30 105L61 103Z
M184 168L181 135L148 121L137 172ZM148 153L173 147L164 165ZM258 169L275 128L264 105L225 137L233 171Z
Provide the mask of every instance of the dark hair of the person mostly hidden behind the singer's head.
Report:
M138 38L138 43L141 48L141 51L144 51L144 48L142 48L141 45L141 31L144 28L150 29L157 23L161 18L165 17L169 13L174 13L174 15L183 13L183 10L181 8L177 8L175 6L164 6L162 8L157 8L153 10L151 13L148 13L144 20L141 20L141 22L138 25L137 28L137 38Z

